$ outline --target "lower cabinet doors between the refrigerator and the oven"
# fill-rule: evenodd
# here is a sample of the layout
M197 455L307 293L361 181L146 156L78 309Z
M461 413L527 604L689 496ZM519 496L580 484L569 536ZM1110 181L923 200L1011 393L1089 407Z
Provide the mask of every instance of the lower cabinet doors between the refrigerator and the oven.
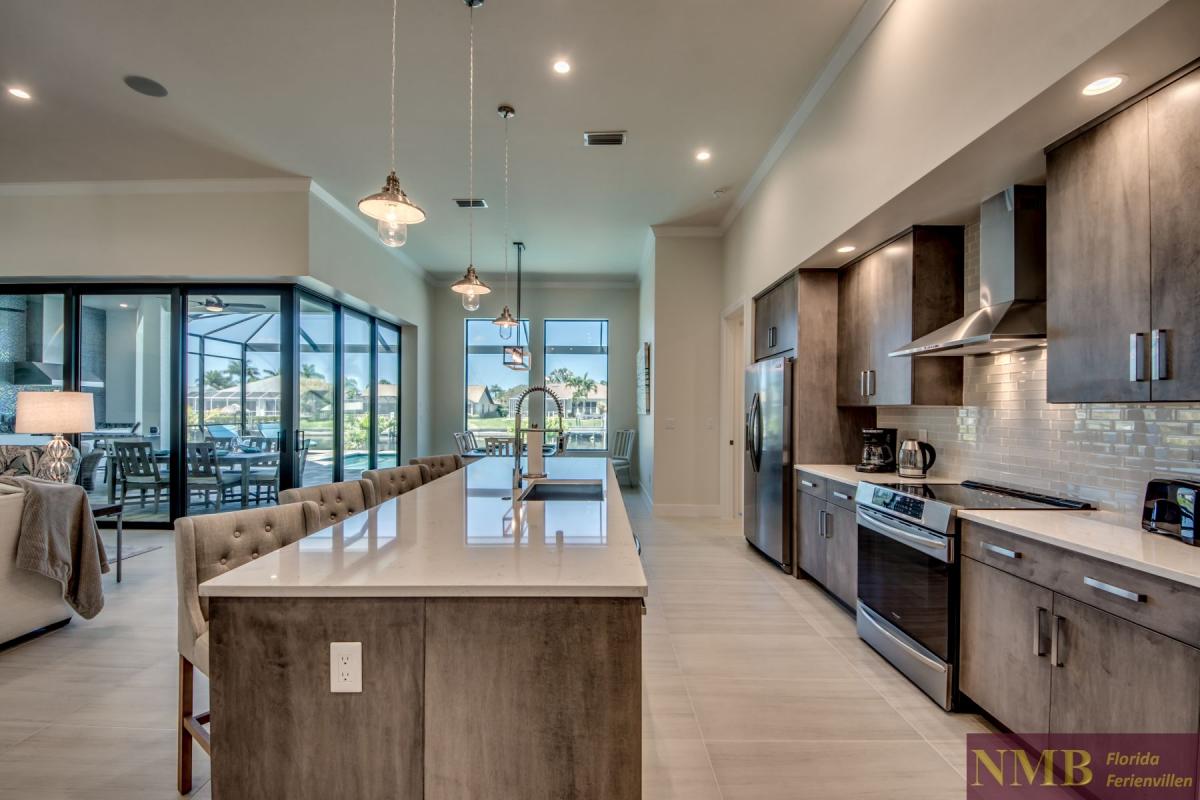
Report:
M797 497L800 569L853 608L858 600L858 523L854 512L808 492Z

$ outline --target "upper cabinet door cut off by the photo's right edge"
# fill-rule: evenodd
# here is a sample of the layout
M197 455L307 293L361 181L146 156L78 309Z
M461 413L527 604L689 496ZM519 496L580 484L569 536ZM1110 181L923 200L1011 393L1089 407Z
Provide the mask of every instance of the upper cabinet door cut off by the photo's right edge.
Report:
M1151 317L1165 347L1151 396L1200 399L1200 71L1150 103ZM1151 377L1154 378L1153 365Z

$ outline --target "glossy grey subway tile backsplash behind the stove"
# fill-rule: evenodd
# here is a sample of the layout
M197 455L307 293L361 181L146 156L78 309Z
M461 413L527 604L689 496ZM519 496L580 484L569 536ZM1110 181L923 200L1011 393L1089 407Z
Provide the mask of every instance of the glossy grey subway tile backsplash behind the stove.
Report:
M971 309L978 227L966 233ZM900 438L925 431L938 467L955 475L1080 498L1129 522L1151 477L1200 481L1200 405L1051 405L1045 396L1045 349L966 356L962 407L881 408L878 425Z

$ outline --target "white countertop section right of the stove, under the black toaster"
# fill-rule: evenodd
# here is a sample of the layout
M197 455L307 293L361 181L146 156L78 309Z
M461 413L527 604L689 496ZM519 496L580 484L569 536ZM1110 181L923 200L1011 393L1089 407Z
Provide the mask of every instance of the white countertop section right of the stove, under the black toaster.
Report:
M1200 547L1112 522L1104 511L960 511L959 517L1063 549L1200 587Z

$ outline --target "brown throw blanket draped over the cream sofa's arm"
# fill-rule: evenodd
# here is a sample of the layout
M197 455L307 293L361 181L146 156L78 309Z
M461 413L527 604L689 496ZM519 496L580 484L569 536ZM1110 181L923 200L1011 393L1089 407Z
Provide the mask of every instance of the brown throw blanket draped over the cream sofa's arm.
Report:
M62 600L84 619L104 607L101 575L108 555L82 486L36 477L0 477L25 492L17 566L62 584Z

